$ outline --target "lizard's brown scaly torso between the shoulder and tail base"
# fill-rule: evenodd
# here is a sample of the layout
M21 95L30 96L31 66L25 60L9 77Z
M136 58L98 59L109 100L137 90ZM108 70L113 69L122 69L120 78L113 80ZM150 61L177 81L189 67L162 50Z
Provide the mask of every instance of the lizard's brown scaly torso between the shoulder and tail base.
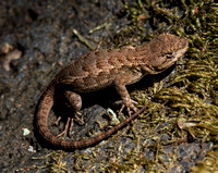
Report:
M121 74L134 70L135 49L102 49L92 51L64 67L57 82L72 85L74 91L89 92L112 85L113 79Z

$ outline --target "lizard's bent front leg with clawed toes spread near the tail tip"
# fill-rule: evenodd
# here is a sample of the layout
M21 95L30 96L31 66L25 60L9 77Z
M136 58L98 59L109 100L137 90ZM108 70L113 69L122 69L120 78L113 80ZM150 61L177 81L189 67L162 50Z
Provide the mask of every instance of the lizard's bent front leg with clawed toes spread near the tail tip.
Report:
M118 94L120 95L122 101L123 101L123 104L120 109L120 113L122 112L122 110L126 107L128 109L128 113L129 115L131 115L131 109L134 110L134 112L137 111L137 108L133 104L135 103L135 101L133 101L131 98L130 98L130 94L128 92L128 89L125 87L125 85L129 85L129 84L133 84L135 82L137 82L141 77L143 76L142 73L130 73L130 74L122 74L122 75L119 75L113 84L114 84L114 87L118 91Z

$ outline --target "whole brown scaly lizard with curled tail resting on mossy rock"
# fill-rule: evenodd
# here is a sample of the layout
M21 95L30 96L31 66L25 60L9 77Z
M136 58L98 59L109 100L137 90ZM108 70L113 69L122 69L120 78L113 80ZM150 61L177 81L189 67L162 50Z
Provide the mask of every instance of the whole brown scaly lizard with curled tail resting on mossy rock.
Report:
M95 50L81 57L61 70L41 96L36 112L39 134L51 145L62 149L88 147L110 136L147 107L137 111L125 86L140 81L146 74L158 74L167 70L185 53L187 45L185 38L161 34L144 46ZM82 107L81 92L95 91L111 85L116 87L123 101L121 111L124 107L129 111L130 116L126 120L86 140L63 140L50 133L48 114L55 103L55 92L65 95L75 110L74 118L77 118ZM131 115L131 109L136 113ZM73 122L73 118L71 121Z

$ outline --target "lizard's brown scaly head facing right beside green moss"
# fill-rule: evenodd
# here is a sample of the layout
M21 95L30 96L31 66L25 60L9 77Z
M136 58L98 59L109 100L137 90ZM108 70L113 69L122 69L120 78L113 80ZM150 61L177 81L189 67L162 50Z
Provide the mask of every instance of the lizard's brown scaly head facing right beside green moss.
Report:
M171 34L161 34L148 45L152 55L147 67L156 74L173 65L186 52L189 41Z

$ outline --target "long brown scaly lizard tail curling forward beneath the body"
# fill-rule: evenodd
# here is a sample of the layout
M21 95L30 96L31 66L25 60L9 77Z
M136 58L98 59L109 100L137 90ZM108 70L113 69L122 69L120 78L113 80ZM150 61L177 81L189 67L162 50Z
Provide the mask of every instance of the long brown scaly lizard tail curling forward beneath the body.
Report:
M99 135L90 137L88 139L71 141L71 140L59 139L57 136L52 135L48 128L48 114L53 106L53 95L55 95L55 87L53 85L50 85L50 87L48 87L48 89L44 92L39 101L38 112L36 113L36 126L38 128L40 136L43 136L48 143L50 143L55 147L62 148L62 149L85 148L85 147L99 143L100 140L109 137L110 135L116 133L118 129L122 128L126 123L135 119L149 104L148 102L138 112L129 116L126 120L124 120L117 126L108 129L107 132L102 132Z

